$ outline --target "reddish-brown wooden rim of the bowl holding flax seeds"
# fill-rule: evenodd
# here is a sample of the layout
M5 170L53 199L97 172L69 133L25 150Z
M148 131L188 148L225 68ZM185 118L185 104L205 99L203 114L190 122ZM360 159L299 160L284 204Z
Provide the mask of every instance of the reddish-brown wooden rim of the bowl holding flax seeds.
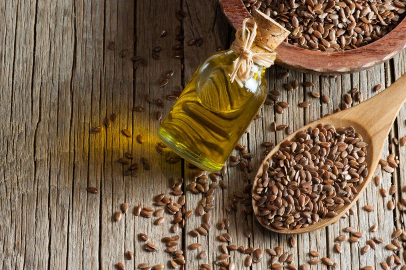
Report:
M219 0L230 24L238 29L243 20L251 17L242 0ZM406 19L385 37L368 45L342 52L320 52L282 43L277 48L277 63L302 72L341 75L369 69L389 60L406 48Z

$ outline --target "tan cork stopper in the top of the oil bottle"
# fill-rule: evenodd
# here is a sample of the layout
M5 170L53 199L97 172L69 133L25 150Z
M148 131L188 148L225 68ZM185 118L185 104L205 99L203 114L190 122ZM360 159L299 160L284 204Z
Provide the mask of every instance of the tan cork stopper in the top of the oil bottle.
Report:
M290 34L282 25L269 18L258 9L252 9L252 15L258 25L255 42L275 50Z

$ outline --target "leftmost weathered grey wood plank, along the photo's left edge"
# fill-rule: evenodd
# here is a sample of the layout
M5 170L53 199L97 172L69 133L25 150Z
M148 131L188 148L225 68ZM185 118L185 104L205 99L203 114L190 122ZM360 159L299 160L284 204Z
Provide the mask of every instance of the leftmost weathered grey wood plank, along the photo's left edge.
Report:
M33 87L36 48L36 1L0 4L0 267L48 266L48 164L36 145L40 121L39 92ZM46 133L44 133L44 137ZM46 147L45 147L46 148ZM46 152L46 150L44 151ZM44 154L45 159L47 154ZM37 159L37 160L36 160ZM38 168L43 168L40 177ZM39 198L43 205L38 205ZM44 210L44 212L37 212ZM39 222L39 223L36 223ZM43 250L32 247L38 245Z

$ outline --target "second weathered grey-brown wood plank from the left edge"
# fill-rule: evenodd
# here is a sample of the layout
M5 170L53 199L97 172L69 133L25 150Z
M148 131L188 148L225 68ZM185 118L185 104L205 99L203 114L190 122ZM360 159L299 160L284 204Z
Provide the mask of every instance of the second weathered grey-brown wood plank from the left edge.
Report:
M44 189L44 195L38 197L37 214L42 212L48 215L48 227L38 232L42 238L44 233L49 235L48 267L55 269L67 267L69 252L68 227L74 162L74 151L70 150L70 131L73 98L71 83L76 60L75 4L65 1L51 4L39 2L37 10L37 18L54 18L39 19L36 24L33 88L39 93L40 103L40 119L35 137L38 162L36 177L44 185L41 188ZM41 227L42 222L39 220L36 224ZM97 220L93 224L97 225ZM93 243L93 247L97 248L97 241ZM37 244L35 250L37 256L45 252Z

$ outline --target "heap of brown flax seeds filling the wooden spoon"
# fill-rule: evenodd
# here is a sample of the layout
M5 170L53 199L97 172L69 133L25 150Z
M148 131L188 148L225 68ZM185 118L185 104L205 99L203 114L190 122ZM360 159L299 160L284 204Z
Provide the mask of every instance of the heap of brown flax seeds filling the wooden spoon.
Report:
M263 164L253 190L258 219L298 229L338 215L368 175L366 146L351 126L299 131Z

